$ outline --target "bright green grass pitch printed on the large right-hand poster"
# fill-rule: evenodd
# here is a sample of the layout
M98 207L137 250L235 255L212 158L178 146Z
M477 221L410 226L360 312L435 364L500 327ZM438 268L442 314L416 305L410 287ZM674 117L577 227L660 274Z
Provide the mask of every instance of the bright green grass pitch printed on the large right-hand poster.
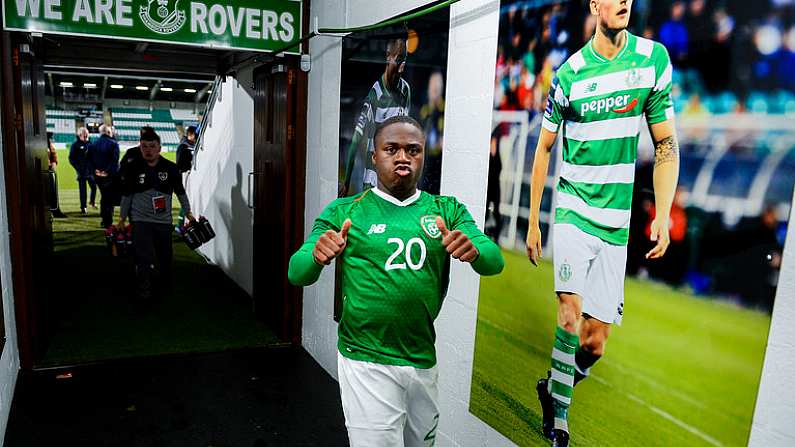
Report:
M481 280L470 409L519 445L548 445L535 384L552 350L552 265L504 255ZM634 279L624 310L574 390L572 445L746 445L770 316Z

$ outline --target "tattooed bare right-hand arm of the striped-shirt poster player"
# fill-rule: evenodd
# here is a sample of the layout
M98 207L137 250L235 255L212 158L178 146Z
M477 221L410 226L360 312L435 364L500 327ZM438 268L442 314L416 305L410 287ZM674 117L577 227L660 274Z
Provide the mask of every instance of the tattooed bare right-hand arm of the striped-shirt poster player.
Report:
M657 245L646 253L646 259L657 259L665 254L671 242L669 225L679 179L679 142L673 119L651 124L649 132L654 141L655 217L651 223L651 240Z

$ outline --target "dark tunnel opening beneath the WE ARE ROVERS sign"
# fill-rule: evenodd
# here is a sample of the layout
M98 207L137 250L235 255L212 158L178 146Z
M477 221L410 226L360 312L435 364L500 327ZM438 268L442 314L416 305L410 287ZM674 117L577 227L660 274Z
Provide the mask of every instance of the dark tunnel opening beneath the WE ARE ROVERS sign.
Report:
M307 77L299 59L3 33L2 138L6 193L17 204L8 217L23 370L300 344L300 290L288 287L286 275L302 236L291 229L303 228L304 213ZM174 240L173 296L143 318L129 312L131 261L112 258L99 245L96 211L80 216L64 209L65 218L54 220L50 213L69 197L50 192L47 131L57 147L68 149L77 127L96 132L102 123L116 129L122 154L137 145L142 125L153 125L166 157L188 125L200 129L183 181L194 214L206 216L217 235L196 253ZM67 152L58 168L61 183L75 175ZM214 330L217 342L196 341Z

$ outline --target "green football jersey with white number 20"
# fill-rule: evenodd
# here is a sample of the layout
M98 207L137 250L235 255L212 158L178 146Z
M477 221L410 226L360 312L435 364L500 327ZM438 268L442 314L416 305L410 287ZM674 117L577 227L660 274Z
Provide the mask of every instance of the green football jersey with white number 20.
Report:
M312 249L327 230L351 220L348 243L337 259L342 268L342 355L386 365L430 368L436 364L433 322L447 293L450 256L436 217L461 230L480 252L472 267L480 274L502 270L499 248L453 197L426 192L403 202L377 189L332 202L315 220L312 234L290 260L290 281L317 280L322 266Z

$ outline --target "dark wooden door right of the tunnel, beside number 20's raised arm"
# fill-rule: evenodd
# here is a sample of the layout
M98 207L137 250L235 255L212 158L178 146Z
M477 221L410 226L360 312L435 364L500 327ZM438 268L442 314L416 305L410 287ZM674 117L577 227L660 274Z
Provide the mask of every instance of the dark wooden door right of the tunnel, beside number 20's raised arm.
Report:
M254 307L282 341L300 344L301 291L287 266L303 242L306 75L273 64L254 87Z

